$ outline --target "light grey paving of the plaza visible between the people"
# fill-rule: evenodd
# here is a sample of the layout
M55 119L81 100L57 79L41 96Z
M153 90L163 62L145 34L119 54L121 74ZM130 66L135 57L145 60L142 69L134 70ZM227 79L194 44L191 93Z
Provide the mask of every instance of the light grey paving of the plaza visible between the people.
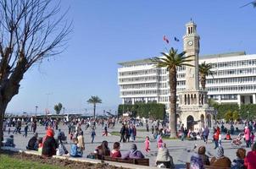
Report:
M117 124L115 126L114 129L109 128L109 132L119 132L120 131L120 124ZM226 126L227 128L229 128L229 126ZM240 129L242 129L242 125L240 126L235 126L238 127ZM68 136L68 126L62 126L60 125L59 128L61 128L64 131L64 134L66 134ZM11 128L12 131L14 130L14 128ZM23 128L22 128L23 130ZM115 136L115 135L109 135L108 137L106 136L102 136L103 133L103 128L101 127L97 127L96 130L96 138L95 138L95 142L92 144L91 143L91 133L90 133L90 129L85 130L85 126L82 126L82 130L84 131L84 137L85 137L85 143L86 143L86 150L84 151L84 157L86 157L86 155L88 155L89 153L93 152L96 147L101 144L101 142L103 140L107 140L109 142L109 148L110 150L112 150L113 148L113 144L116 141L120 140L119 136ZM39 137L43 137L45 135L45 128L43 126L38 125L37 127L37 133L39 135ZM58 132L55 131L55 136ZM16 144L16 148L25 150L25 146L28 142L28 140L32 137L32 133L29 132L27 138L23 137L23 133L22 134L14 134L14 144ZM145 145L144 145L144 141L145 141L145 137L146 136L150 137L150 152L146 152L144 150ZM6 138L8 136L7 132L4 132L4 138ZM225 137L225 134L222 134L222 138ZM236 138L237 135L232 135L232 138ZM209 138L212 138L212 131L210 132ZM151 132L146 132L145 131L145 127L138 127L137 128L137 139L136 139L136 145L138 150L142 150L142 153L146 156L146 158L150 159L150 166L154 166L155 163L155 159L156 159L156 155L157 155L157 143L156 140L153 139L153 135L151 134ZM189 155L186 153L185 149L190 149L192 150L194 145L197 144L197 146L199 147L200 145L204 145L206 146L206 150L209 151L212 155L215 154L215 150L214 150L214 144L209 141L208 144L205 144L202 140L196 140L196 141L191 141L191 140L184 140L181 141L180 139L164 139L164 143L167 144L167 148L170 150L170 155L172 155L173 159L174 159L174 163L176 168L184 168L185 167L185 163L181 162L181 161L187 161L187 159L189 159ZM245 145L245 143L243 143L243 145ZM67 150L70 150L70 139L68 138L68 144L65 144ZM130 146L131 143L121 143L121 153L124 153L127 150L130 150ZM236 158L236 151L237 148L236 147L231 147L231 141L226 141L224 139L222 139L222 146L224 147L225 150L225 155L228 156L231 161L234 160ZM248 148L246 148L247 152Z

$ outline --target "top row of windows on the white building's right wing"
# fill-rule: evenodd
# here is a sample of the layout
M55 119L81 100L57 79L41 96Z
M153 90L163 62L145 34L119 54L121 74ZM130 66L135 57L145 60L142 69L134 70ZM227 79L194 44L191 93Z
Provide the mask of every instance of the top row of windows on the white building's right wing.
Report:
M251 65L256 65L256 59L231 61L231 62L225 62L225 63L212 63L213 68L226 68L226 67L251 66Z

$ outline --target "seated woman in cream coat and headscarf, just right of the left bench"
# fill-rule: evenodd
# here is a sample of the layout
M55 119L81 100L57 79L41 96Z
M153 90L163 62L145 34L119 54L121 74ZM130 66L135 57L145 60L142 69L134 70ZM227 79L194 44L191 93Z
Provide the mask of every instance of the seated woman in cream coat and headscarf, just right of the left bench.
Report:
M164 143L159 148L156 164L157 166L164 165L165 168L175 168L172 156L170 156L169 150L166 148L166 144Z

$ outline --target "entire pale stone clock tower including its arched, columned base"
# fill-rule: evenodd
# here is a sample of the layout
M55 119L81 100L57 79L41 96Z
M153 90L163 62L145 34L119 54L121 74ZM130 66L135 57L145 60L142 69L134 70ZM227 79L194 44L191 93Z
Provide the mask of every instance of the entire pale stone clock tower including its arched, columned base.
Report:
M191 20L186 24L186 34L183 36L184 51L186 51L188 62L192 65L186 66L186 89L180 90L179 106L177 109L178 122L183 123L185 128L195 129L205 126L211 127L214 108L209 107L207 102L207 90L199 89L198 54L200 36L197 33L197 25Z

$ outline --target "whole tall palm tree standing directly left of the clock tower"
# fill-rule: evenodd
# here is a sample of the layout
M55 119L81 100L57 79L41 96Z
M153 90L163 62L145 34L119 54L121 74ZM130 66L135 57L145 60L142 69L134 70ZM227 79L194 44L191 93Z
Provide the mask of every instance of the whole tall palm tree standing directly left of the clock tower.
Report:
M192 66L188 62L192 59L186 57L186 52L178 53L177 49L170 48L169 53L161 52L164 57L154 57L153 63L156 63L156 68L167 68L169 71L169 85L170 85L170 114L169 114L169 125L170 125L170 137L177 137L176 128L176 86L177 86L177 67L181 66Z

